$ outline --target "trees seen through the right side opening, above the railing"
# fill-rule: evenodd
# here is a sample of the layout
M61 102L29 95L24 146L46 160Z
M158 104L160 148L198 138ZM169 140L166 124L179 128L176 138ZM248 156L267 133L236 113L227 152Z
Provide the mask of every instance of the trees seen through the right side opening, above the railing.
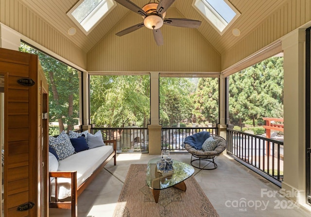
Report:
M236 130L264 134L262 118L283 118L283 89L283 57L269 58L231 75L230 124ZM283 135L279 131L276 133Z

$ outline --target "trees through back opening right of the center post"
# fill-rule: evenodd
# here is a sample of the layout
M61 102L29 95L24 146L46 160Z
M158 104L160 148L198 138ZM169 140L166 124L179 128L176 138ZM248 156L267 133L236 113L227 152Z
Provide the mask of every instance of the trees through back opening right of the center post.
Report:
M218 123L218 78L160 77L163 127L208 127Z

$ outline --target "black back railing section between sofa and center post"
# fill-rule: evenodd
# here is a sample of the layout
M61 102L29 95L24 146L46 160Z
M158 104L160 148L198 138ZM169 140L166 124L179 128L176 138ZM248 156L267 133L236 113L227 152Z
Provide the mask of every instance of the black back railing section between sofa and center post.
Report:
M148 153L148 129L140 127L91 128L94 134L101 131L104 140L117 140L117 152Z

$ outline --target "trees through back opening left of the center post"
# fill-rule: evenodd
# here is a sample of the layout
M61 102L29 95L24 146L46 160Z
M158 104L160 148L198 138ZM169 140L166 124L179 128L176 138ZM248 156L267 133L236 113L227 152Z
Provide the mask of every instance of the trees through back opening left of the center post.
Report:
M90 116L95 127L147 127L150 76L90 76Z

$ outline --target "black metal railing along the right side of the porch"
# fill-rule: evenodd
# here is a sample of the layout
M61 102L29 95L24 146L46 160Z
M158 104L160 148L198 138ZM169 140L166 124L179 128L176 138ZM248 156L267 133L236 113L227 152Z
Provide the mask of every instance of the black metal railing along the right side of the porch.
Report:
M283 181L283 141L227 129L227 153L269 179Z

